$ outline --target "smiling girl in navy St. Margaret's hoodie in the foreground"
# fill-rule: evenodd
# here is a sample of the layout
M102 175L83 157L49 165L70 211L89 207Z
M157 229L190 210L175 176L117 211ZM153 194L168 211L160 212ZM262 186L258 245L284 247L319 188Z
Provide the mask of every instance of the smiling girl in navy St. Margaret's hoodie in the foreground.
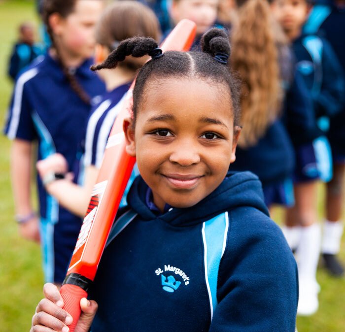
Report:
M240 134L228 37L203 52L120 43L94 69L150 54L138 73L127 152L141 176L109 236L79 332L295 331L297 270L251 173L228 173ZM122 211L123 212L123 211ZM121 225L127 225L121 227ZM44 287L31 331L67 331L57 288ZM65 329L65 330L63 330Z

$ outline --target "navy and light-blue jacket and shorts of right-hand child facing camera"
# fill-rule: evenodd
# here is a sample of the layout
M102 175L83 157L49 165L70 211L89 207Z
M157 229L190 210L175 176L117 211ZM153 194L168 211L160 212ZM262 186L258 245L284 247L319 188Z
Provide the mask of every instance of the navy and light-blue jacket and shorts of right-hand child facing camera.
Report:
M296 69L313 101L316 126L312 142L296 149L295 180L307 182L332 179L332 154L326 137L332 116L342 108L344 77L341 66L328 42L316 35L301 35L292 43Z

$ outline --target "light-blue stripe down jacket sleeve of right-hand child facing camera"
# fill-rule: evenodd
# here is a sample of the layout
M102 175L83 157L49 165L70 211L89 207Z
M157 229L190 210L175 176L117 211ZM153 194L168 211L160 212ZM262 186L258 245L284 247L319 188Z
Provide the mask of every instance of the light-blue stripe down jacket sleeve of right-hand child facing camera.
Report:
M323 72L322 72L322 54L323 42L321 38L315 35L310 35L302 40L303 46L306 48L311 56L314 64L314 82L312 85L311 93L313 96L317 95L321 90Z

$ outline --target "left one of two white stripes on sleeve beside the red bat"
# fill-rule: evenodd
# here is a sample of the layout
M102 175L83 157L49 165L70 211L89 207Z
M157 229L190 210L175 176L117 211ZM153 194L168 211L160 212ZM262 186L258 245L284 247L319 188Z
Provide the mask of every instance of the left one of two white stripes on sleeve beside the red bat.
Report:
M87 123L86 138L85 138L85 153L84 153L84 165L90 166L92 162L92 146L95 136L95 130L98 121L100 120L103 113L110 106L111 100L104 100L92 113Z

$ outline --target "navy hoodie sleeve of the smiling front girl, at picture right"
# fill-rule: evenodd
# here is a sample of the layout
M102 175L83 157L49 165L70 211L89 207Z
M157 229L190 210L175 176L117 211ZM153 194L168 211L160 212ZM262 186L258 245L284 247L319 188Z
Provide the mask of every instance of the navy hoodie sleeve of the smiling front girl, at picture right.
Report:
M251 209L242 210L242 221L239 215L233 220L209 331L294 332L297 266L283 234Z

